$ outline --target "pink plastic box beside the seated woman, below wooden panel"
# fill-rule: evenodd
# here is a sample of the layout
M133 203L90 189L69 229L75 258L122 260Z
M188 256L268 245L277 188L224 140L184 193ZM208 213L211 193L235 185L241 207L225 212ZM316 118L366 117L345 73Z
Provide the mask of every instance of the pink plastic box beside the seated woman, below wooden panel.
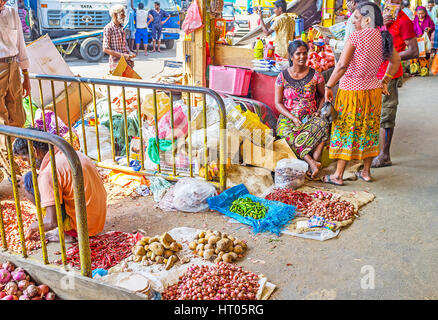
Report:
M210 66L210 89L234 96L246 96L251 74L251 69L238 66Z

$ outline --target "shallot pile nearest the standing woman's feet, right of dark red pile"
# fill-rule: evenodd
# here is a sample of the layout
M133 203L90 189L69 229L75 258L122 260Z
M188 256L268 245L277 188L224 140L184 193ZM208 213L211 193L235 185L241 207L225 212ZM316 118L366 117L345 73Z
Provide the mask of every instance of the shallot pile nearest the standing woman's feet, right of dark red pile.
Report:
M356 213L351 202L338 199L314 201L303 211L307 217L318 216L331 221L349 220Z

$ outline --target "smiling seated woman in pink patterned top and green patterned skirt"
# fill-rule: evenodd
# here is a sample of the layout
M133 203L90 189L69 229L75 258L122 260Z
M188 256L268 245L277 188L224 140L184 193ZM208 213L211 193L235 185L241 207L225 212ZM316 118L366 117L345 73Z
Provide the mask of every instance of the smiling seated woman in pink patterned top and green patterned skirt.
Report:
M309 47L301 40L289 43L290 67L275 83L275 106L280 112L277 135L310 167L315 178L321 168L322 149L328 139L328 122L319 117L324 103L324 78L306 65Z

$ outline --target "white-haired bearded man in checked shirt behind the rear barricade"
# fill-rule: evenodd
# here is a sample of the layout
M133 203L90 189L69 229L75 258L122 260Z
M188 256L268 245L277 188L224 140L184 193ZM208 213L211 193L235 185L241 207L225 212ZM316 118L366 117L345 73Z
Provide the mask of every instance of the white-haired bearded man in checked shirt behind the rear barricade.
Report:
M110 9L111 22L103 29L103 52L109 55L109 71L113 73L121 57L126 59L128 65L133 68L132 58L136 54L129 50L123 25L126 21L125 7L113 6Z

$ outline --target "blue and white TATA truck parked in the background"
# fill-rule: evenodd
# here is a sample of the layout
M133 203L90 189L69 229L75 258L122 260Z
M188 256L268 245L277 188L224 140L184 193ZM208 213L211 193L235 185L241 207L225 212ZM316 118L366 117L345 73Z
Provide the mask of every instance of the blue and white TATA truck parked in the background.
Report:
M17 1L17 0L10 0ZM24 0L29 13L31 40L48 34L65 55L90 62L103 57L103 28L111 21L109 10L121 4L137 8L143 2L152 9L155 0ZM171 18L163 26L162 41L171 49L179 39L179 12L174 0L158 0Z

